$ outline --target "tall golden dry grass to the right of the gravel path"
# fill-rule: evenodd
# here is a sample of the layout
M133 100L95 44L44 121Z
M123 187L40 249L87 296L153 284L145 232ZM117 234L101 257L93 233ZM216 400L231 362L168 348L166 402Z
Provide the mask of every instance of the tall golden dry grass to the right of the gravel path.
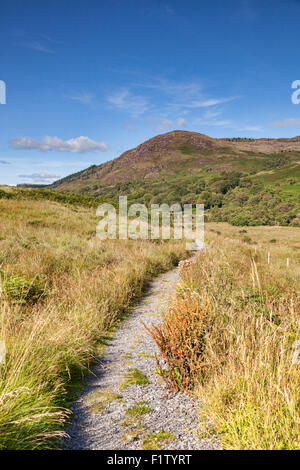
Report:
M268 265L266 240L273 238L269 228L267 235L264 228L254 229L257 245L240 241L237 230L229 234L226 226L218 228L223 236L207 231L210 249L183 275L178 296L181 311L187 309L188 315L180 322L186 340L177 358L185 360L171 364L169 377L180 385L178 377L185 376L201 352L194 392L204 403L201 414L226 448L299 449L300 365L292 361L293 345L300 339L299 252L294 249L299 229L287 229L286 237L281 229L284 241L272 248ZM287 256L293 260L289 269ZM199 330L200 346L186 324L186 318L193 319L186 291L199 297L199 305L210 299ZM160 332L172 319L174 327L174 318L169 312ZM160 345L164 358L173 342L165 339Z

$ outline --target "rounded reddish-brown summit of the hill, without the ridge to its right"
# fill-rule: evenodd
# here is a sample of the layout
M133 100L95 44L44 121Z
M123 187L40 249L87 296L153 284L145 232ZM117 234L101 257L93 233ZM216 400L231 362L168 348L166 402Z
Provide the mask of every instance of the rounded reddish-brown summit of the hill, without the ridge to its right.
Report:
M76 190L95 181L108 185L127 180L152 179L162 173L172 173L189 161L194 166L209 163L214 160L212 154L218 155L221 151L221 143L203 134L168 132L147 140L114 160L63 178L52 187Z

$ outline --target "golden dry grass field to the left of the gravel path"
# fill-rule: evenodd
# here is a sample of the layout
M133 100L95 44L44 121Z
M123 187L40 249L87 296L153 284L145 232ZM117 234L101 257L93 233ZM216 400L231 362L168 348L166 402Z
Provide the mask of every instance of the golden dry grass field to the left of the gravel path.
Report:
M101 242L93 210L0 200L0 449L57 443L72 390L147 282L184 244Z

